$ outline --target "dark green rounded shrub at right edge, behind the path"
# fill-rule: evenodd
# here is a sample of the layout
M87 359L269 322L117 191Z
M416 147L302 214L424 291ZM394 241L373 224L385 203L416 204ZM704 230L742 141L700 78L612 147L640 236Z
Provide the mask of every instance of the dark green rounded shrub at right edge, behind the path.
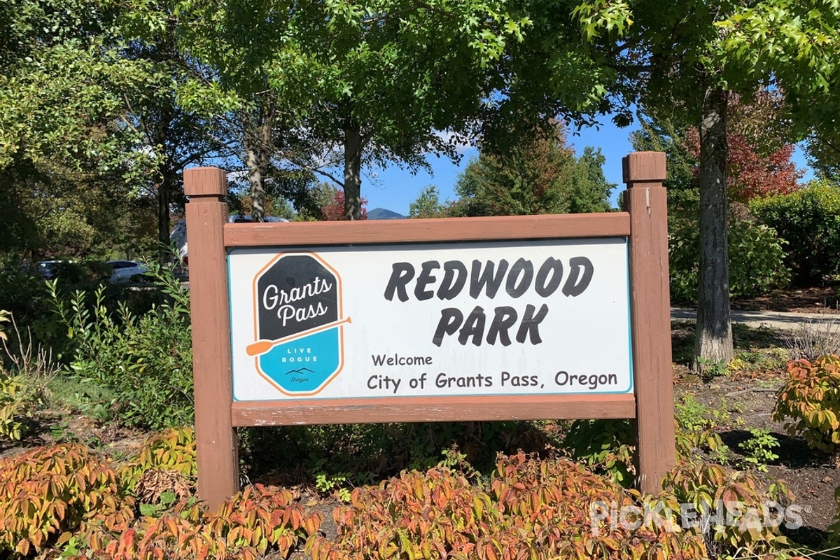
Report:
M796 283L815 285L840 273L840 188L815 182L787 195L754 199L749 207L789 243L785 264Z

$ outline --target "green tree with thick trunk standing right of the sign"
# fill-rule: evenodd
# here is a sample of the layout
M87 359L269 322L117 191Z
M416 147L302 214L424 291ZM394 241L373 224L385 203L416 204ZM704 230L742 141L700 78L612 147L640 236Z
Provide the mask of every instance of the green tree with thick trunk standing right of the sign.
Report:
M588 57L614 72L624 104L638 101L654 116L695 126L700 143L700 290L696 355L732 358L727 258L727 118L732 95L772 85L785 96L801 135L825 126L837 91L840 10L837 3L760 0L580 3ZM562 56L560 54L555 57ZM605 83L615 83L606 81Z

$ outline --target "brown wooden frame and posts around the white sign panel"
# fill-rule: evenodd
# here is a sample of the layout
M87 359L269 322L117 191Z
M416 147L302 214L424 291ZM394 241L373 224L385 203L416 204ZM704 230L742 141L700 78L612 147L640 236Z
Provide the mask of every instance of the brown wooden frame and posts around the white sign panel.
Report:
M635 418L638 485L659 491L662 475L675 463L664 154L630 154L623 160L623 172L626 212L228 223L225 172L213 167L186 170L199 497L215 507L239 490L235 427L572 418ZM629 252L633 394L234 402L228 249L616 237L627 238Z

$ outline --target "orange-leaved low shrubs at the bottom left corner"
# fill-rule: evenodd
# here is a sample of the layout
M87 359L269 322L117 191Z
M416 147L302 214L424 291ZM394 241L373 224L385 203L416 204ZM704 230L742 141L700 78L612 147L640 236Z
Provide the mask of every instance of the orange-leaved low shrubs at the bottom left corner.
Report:
M186 449L189 456L192 441L187 430L151 438L141 461L178 468L189 461L171 452ZM0 554L55 557L45 552L51 548L61 557L103 560L286 557L322 521L296 503L299 495L260 484L215 512L186 497L138 517L134 498L123 493L127 485L107 461L75 443L0 461Z

